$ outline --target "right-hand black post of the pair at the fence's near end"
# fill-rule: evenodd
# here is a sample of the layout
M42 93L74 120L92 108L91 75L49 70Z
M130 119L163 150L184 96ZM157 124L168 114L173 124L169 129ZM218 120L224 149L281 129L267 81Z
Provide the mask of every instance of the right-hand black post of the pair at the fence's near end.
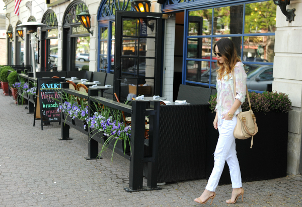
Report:
M159 127L160 127L160 101L154 101L155 115L149 116L149 151L152 154L151 162L148 162L147 186L157 188L158 163L159 163Z

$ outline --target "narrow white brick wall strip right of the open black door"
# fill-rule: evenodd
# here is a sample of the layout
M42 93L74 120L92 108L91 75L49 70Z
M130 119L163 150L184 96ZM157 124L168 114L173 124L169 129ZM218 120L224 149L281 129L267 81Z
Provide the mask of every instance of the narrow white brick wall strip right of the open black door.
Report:
M164 50L164 91L163 96L172 102L174 78L174 41L175 16L166 20L165 50ZM166 70L165 70L166 69Z

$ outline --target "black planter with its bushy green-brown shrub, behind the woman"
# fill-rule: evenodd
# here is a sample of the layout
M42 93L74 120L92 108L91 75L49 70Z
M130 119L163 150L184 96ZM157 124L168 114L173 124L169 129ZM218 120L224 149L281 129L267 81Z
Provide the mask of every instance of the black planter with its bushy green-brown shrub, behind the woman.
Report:
M284 93L250 92L252 110L256 116L258 133L251 138L236 139L236 151L243 182L267 180L286 176L288 112L291 101ZM218 130L214 129L216 97L211 98L207 121L207 164L208 179L214 166L214 151L218 140ZM248 101L243 103L242 110L248 111ZM230 184L230 171L225 162L219 184Z

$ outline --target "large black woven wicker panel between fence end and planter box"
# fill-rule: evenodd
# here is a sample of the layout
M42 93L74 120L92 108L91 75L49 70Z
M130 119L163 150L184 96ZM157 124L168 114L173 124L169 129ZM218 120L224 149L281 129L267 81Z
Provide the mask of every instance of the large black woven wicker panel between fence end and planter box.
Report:
M208 104L160 107L158 183L205 178L208 110Z

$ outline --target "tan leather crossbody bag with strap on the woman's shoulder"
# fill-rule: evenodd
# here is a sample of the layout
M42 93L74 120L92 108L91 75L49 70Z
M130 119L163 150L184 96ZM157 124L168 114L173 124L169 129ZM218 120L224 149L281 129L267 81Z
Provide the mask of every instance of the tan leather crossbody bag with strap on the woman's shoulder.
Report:
M234 82L234 98L236 97L236 80L235 80L235 72L233 70L233 82ZM256 124L256 117L252 111L251 101L247 86L247 96L249 101L250 110L247 112L240 112L237 117L237 124L234 129L234 137L236 139L248 139L252 137L251 148L253 146L254 135L258 132L258 127Z

